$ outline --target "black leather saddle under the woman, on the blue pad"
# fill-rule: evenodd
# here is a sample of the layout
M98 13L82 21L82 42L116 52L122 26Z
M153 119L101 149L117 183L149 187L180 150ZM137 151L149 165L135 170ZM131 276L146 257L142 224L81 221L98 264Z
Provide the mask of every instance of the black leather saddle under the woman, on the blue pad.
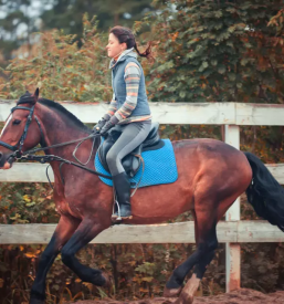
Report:
M123 125L114 126L106 136L106 139L101 144L97 149L97 156L104 167L104 169L109 172L106 155L115 141L119 138L124 129ZM158 134L159 123L152 123L151 129L147 138L143 141L140 146L134 149L130 154L125 156L122 160L123 167L129 178L133 178L141 166L141 153L146 150L157 150L164 147L165 143L160 139Z

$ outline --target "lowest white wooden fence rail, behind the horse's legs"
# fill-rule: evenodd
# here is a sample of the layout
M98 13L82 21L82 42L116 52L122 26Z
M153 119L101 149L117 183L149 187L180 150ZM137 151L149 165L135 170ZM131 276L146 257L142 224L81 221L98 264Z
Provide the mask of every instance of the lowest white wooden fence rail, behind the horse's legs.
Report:
M46 244L56 224L1 224L1 244ZM284 242L284 233L266 221L220 221L220 243ZM92 243L194 243L194 222L113 226Z

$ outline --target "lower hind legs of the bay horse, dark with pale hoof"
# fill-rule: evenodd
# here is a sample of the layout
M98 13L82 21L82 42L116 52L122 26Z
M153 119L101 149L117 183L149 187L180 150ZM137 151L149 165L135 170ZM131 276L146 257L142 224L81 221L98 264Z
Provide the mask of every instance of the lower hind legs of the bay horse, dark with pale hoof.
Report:
M194 214L194 229L196 229L196 242L197 250L179 265L172 273L170 280L166 284L164 292L165 296L176 296L181 291L182 283L186 275L193 268L192 277L188 281L183 287L180 297L177 303L191 303L193 294L199 286L199 282L204 275L207 265L212 261L214 256L214 250L218 247L214 220L214 209L208 203L207 209L196 210Z

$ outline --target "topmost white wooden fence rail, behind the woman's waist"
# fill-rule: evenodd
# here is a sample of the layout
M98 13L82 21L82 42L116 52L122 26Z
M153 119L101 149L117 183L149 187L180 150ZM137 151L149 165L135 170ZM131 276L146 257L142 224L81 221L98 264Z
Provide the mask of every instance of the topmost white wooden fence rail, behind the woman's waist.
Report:
M83 123L95 123L106 113L107 104L61 102ZM13 101L0 99L0 122L10 114ZM152 120L160 124L265 125L284 126L284 106L241 103L151 103Z

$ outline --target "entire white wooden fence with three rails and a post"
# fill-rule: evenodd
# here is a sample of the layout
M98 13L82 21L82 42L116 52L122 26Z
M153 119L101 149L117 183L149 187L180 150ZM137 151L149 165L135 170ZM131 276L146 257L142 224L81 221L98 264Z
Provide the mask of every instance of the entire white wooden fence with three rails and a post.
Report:
M95 123L106 112L106 104L62 103L84 123ZM13 106L12 101L0 101L0 122L4 122ZM267 104L151 103L152 119L160 124L225 125L225 143L240 148L242 125L284 125L284 106ZM284 184L284 164L267 168L280 184ZM0 170L0 182L46 182L45 165L14 164ZM0 226L0 243L48 243L54 224ZM93 240L95 243L193 243L193 222L113 227ZM265 221L240 221L240 200L227 212L227 222L218 224L218 239L227 243L227 291L240 287L241 242L283 242L284 233Z

